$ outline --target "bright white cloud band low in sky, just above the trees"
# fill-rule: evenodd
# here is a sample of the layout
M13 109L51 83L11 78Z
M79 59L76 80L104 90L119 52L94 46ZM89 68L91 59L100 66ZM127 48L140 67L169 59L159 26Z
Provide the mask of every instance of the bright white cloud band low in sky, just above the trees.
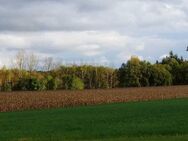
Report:
M4 55L25 48L37 53L41 58L45 56L66 60L105 58L102 60L116 64L127 61L132 55L140 57L141 60L155 61L170 50L179 48L176 48L179 42L170 39L134 37L104 31L10 32L0 34L0 41Z

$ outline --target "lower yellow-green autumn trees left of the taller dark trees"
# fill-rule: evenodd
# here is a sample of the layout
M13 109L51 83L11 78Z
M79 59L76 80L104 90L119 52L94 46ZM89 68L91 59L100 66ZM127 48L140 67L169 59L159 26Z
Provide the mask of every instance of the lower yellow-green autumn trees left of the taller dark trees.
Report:
M61 66L51 71L0 70L2 91L97 89L117 86L117 71L108 67Z

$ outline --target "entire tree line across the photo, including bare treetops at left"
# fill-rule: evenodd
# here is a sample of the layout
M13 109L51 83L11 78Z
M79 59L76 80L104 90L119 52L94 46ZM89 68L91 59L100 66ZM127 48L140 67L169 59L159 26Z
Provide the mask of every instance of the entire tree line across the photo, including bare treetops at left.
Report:
M104 66L60 66L46 58L38 67L34 54L18 52L13 68L0 70L1 91L98 89L188 84L188 61L173 52L161 62L151 64L132 57L119 69Z

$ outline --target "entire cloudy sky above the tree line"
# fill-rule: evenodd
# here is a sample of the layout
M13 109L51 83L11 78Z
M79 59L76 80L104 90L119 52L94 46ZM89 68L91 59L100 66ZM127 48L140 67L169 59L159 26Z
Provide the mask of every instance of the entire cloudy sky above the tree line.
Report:
M188 58L187 0L0 0L0 65L20 50L119 66Z

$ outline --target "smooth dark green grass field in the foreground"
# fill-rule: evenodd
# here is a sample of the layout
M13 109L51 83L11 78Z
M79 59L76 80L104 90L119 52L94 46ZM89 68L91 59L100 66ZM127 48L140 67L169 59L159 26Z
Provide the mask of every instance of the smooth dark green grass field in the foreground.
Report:
M188 141L188 99L0 113L0 141Z

